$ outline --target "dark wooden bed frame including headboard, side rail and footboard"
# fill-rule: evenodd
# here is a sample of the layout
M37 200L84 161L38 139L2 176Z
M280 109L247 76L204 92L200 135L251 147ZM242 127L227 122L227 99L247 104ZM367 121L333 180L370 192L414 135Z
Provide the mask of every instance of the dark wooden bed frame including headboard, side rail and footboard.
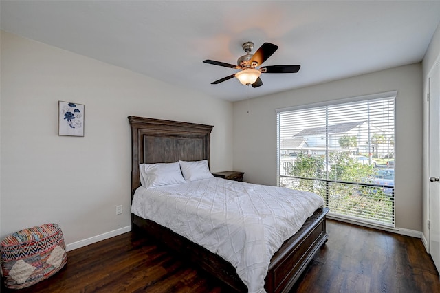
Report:
M129 116L129 122L132 135L132 200L136 188L140 186L139 164L204 159L210 162L210 125L135 116ZM318 208L303 227L274 254L265 278L267 292L288 292L292 288L318 249L327 241L325 221L328 211L328 208ZM133 214L131 219L133 230L142 228L234 290L247 292L235 268L217 254L153 221Z

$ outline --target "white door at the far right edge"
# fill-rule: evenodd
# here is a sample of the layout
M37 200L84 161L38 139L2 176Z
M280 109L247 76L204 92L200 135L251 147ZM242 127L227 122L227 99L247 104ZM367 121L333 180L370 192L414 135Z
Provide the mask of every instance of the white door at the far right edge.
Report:
M440 62L429 76L430 254L440 272Z

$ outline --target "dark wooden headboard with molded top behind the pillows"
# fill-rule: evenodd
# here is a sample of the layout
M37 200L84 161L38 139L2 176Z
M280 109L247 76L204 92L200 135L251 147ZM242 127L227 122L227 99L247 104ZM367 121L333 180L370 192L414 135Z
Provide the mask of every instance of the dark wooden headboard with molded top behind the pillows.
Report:
M139 164L208 160L211 125L129 116L131 197L140 186Z

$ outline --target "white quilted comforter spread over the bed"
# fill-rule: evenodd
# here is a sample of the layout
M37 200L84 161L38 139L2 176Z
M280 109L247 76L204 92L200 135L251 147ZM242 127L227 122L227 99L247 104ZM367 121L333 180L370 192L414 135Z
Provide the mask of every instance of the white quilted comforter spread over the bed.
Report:
M131 212L220 255L249 292L265 292L272 255L323 204L315 193L212 178L141 186Z

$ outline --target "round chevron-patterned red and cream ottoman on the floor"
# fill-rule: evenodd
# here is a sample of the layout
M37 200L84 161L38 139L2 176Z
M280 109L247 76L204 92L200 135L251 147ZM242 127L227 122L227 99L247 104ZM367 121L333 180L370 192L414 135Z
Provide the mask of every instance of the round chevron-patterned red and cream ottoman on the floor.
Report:
M58 224L21 230L1 241L5 286L21 289L49 278L67 263L63 232Z

